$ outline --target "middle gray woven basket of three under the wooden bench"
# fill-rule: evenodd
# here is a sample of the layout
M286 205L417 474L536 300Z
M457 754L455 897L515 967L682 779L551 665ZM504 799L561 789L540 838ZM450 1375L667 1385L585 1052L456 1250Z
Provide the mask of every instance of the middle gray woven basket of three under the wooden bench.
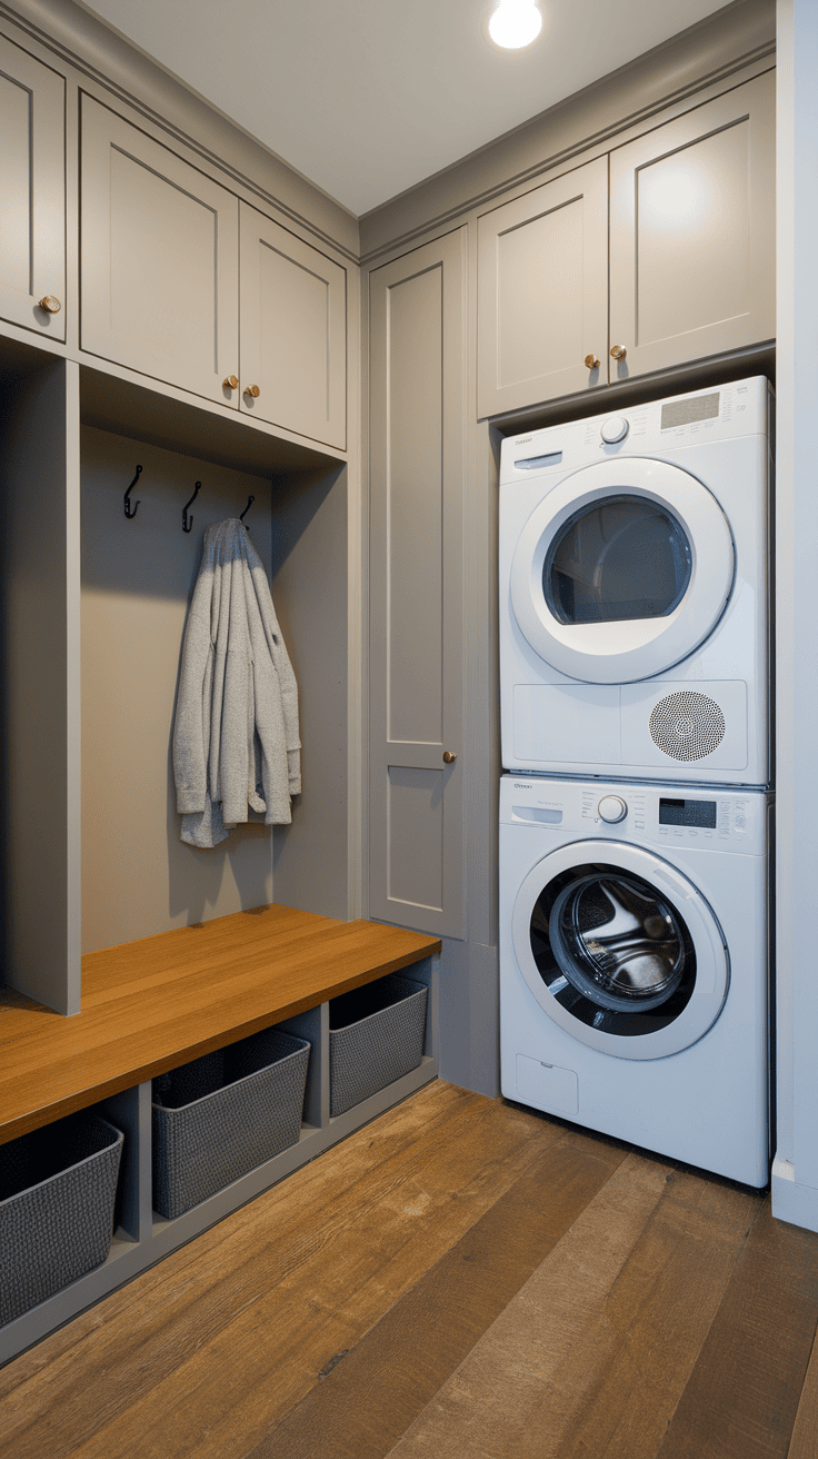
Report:
M153 1205L174 1220L300 1135L311 1045L280 1029L153 1080Z

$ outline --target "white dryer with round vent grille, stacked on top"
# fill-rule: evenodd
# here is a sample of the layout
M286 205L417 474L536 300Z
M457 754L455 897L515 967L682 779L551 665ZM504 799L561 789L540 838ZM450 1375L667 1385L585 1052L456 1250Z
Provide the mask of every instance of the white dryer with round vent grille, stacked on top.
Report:
M766 379L503 441L506 769L770 783Z

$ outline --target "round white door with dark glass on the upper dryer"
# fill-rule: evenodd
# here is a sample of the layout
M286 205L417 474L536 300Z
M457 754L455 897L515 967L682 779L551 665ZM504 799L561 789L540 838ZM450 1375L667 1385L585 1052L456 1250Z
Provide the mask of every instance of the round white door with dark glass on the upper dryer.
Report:
M704 642L733 576L731 528L712 492L666 461L621 457L574 471L544 498L521 533L510 594L547 664L628 684Z

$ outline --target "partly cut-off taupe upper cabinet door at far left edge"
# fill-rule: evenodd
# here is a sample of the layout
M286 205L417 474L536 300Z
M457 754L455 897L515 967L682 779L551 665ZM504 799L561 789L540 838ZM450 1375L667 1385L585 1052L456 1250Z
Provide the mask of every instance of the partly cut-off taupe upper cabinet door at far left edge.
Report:
M0 318L66 338L66 82L0 35Z

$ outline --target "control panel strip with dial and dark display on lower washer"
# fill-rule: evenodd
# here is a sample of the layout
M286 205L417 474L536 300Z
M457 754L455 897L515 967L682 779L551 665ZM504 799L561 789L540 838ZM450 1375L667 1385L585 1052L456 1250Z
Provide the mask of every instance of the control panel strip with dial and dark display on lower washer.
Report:
M720 791L690 785L553 781L505 775L500 821L633 845L763 855L767 845L766 791Z

